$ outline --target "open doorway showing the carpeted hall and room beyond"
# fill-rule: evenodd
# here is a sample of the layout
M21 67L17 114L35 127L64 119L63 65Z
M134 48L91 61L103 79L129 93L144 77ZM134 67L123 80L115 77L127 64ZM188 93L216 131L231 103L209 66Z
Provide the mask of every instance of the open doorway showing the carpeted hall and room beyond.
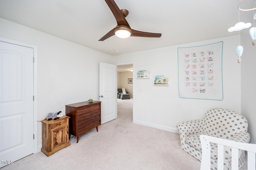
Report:
M125 89L124 93L128 93L123 97L117 95L118 117L133 122L133 64L117 66L117 88L120 92Z

